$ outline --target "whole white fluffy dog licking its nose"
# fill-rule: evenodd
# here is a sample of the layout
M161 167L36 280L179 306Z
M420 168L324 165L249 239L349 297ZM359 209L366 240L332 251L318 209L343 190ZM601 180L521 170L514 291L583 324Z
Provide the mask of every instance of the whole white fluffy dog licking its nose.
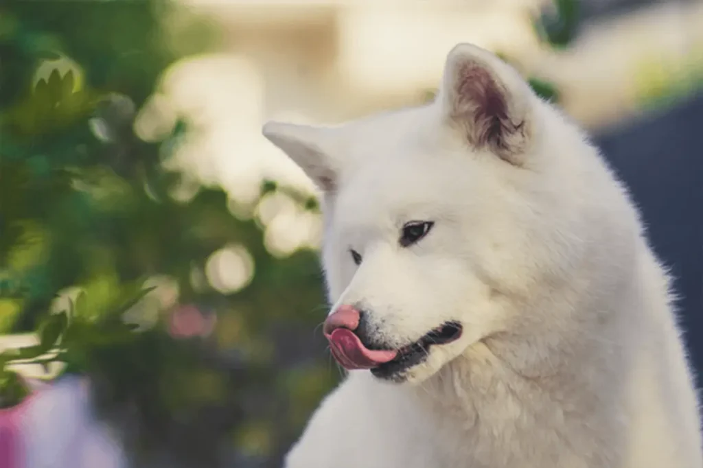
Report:
M350 370L285 467L703 467L638 212L512 67L461 44L430 105L264 135L324 193L325 336Z

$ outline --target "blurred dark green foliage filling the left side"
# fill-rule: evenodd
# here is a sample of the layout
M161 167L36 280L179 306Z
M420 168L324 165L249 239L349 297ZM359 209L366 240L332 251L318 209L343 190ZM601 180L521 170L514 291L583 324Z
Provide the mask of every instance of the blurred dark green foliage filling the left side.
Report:
M187 115L161 141L134 134L162 73L215 33L161 0L0 4L0 334L39 337L0 355L0 403L27 393L13 364L65 363L91 377L137 466L274 466L338 377L309 350L323 350L310 339L325 301L315 252L272 256L220 188L172 197L185 176L162 163ZM194 282L232 243L252 256L251 282ZM176 339L174 317L193 311L214 331Z

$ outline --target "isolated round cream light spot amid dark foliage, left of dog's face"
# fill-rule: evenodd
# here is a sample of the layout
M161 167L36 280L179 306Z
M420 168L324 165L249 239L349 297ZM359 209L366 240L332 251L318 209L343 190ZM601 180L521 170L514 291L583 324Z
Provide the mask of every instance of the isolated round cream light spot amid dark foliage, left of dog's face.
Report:
M214 252L205 264L210 285L222 294L232 294L254 277L254 259L245 247L230 245Z

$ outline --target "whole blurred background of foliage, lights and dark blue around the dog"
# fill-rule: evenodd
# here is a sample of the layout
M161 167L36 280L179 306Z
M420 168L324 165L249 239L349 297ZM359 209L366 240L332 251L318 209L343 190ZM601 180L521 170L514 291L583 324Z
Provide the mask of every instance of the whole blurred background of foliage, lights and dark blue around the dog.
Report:
M702 2L6 0L0 467L280 467L342 374L262 123L425 103L460 41L594 136L703 368Z

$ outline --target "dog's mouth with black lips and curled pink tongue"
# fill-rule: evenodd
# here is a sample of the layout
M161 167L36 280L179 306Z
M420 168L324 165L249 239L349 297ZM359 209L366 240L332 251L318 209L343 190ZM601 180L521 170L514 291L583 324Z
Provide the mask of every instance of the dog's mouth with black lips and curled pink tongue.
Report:
M376 377L394 379L405 370L422 363L430 353L430 347L454 342L459 339L461 332L460 323L446 322L401 349L369 349L348 328L337 328L327 335L327 339L333 356L344 368L370 369Z

